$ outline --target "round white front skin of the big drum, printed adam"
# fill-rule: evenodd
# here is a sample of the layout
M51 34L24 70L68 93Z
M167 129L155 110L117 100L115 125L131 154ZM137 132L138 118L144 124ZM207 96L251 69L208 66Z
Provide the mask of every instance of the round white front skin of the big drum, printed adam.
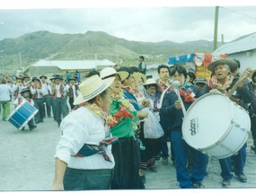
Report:
M205 94L187 111L182 124L184 140L195 149L215 145L233 118L231 101L222 94Z

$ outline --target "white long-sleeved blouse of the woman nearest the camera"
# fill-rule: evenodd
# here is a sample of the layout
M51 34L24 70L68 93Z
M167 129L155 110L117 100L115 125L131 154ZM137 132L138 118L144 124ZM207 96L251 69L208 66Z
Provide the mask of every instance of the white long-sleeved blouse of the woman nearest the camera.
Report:
M99 145L106 136L106 128L102 118L92 110L81 107L70 112L60 125L62 136L57 144L55 157L66 162L68 167L74 169L94 170L112 169L115 165L111 154L111 145L106 153L111 162L104 160L102 154L93 154L87 157L74 157L84 144Z

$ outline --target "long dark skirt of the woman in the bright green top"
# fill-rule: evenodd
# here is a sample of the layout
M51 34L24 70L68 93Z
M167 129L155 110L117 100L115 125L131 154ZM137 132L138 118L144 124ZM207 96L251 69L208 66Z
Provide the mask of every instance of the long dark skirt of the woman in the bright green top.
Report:
M115 159L111 189L145 189L138 175L140 165L139 145L134 137L119 138L112 145Z

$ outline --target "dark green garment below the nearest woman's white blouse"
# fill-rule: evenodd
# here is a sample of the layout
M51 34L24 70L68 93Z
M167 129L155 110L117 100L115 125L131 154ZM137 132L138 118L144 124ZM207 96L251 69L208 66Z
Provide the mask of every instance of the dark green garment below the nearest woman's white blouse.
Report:
M66 168L63 185L65 190L110 189L112 169L78 170Z

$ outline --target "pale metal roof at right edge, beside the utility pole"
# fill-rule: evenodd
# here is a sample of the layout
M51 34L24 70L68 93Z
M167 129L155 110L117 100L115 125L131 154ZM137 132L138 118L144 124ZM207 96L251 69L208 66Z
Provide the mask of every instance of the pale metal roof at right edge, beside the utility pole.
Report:
M237 52L248 51L256 48L256 33L252 33L243 39L224 44L217 48L215 54L233 54Z

